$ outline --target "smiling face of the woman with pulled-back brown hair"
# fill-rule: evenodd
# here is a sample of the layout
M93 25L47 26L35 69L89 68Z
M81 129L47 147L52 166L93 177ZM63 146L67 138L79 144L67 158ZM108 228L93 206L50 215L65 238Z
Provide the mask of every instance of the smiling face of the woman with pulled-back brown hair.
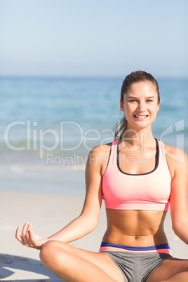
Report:
M159 111L156 86L150 81L133 83L123 101L120 99L120 105L128 121L127 129L151 126Z

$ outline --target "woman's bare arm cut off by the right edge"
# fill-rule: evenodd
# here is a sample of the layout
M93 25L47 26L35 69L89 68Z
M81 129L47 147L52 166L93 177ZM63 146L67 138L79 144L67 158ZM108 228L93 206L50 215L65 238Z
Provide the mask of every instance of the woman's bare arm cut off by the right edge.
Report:
M168 165L173 171L170 195L170 213L175 234L188 244L188 159L182 150L175 149L175 154L168 156Z

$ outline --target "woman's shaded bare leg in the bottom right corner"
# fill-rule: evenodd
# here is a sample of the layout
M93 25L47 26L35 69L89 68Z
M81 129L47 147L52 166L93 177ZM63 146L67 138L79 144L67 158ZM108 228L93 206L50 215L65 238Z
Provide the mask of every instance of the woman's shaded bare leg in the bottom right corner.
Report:
M166 259L152 274L146 282L187 282L188 260L170 257Z

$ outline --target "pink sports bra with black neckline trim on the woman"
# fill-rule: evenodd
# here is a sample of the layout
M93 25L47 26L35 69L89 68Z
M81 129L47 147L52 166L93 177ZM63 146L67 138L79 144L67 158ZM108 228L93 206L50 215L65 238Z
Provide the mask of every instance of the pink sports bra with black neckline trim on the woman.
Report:
M106 208L168 210L171 176L163 142L156 140L155 168L149 173L124 173L119 167L119 139L112 142L109 163L102 177Z

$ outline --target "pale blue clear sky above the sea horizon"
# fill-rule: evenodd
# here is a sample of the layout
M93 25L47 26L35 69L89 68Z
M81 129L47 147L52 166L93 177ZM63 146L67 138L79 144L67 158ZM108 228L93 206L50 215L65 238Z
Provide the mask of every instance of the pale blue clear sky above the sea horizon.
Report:
M188 77L187 0L0 0L0 76Z

